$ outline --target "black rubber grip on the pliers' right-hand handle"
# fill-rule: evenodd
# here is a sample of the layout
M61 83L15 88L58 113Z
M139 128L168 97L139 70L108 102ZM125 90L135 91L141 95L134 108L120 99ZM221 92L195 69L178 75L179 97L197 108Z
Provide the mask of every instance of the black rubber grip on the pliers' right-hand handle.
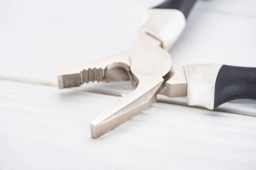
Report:
M256 68L223 65L214 95L214 108L234 99L256 99Z

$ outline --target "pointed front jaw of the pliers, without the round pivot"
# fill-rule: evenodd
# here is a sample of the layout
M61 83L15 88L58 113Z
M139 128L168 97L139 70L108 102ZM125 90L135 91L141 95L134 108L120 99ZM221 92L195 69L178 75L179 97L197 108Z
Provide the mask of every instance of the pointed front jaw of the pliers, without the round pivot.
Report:
M158 77L152 81L143 79L142 83L130 94L125 94L119 101L103 110L92 122L90 122L91 137L96 139L113 130L132 116L148 108L157 99L157 93L163 86L164 79Z

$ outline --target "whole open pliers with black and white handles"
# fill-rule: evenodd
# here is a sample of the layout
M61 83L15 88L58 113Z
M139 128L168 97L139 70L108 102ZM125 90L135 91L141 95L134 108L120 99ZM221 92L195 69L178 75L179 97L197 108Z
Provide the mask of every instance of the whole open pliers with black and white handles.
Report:
M166 0L148 9L139 27L135 52L119 52L58 74L58 88L83 83L131 81L134 91L90 122L99 138L148 108L157 94L187 96L188 105L209 110L233 99L256 99L256 68L223 64L192 64L172 68L168 50L182 33L196 0Z

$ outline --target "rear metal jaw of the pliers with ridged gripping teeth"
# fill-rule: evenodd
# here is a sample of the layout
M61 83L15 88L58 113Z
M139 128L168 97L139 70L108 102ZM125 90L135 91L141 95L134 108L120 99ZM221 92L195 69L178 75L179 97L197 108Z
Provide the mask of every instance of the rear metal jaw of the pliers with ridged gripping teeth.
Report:
M121 52L58 73L58 88L79 87L88 82L131 80L128 53Z

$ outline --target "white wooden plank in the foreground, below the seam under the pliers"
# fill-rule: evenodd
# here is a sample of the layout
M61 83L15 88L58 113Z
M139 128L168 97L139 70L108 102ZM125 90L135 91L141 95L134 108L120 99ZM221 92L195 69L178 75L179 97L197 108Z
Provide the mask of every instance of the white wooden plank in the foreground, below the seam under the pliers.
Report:
M256 117L154 103L99 139L118 97L0 81L0 169L254 170Z

